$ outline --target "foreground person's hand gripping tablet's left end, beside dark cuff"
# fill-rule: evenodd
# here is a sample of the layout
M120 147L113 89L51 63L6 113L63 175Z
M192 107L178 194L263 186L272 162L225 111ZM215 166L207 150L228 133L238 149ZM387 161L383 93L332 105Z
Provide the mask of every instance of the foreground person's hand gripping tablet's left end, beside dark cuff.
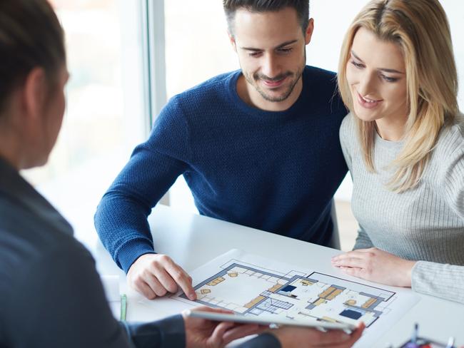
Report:
M233 313L226 309L197 307L203 312ZM186 327L187 348L221 348L234 339L257 334L263 331L258 324L235 324L233 322L216 322L207 319L188 317L182 313Z

